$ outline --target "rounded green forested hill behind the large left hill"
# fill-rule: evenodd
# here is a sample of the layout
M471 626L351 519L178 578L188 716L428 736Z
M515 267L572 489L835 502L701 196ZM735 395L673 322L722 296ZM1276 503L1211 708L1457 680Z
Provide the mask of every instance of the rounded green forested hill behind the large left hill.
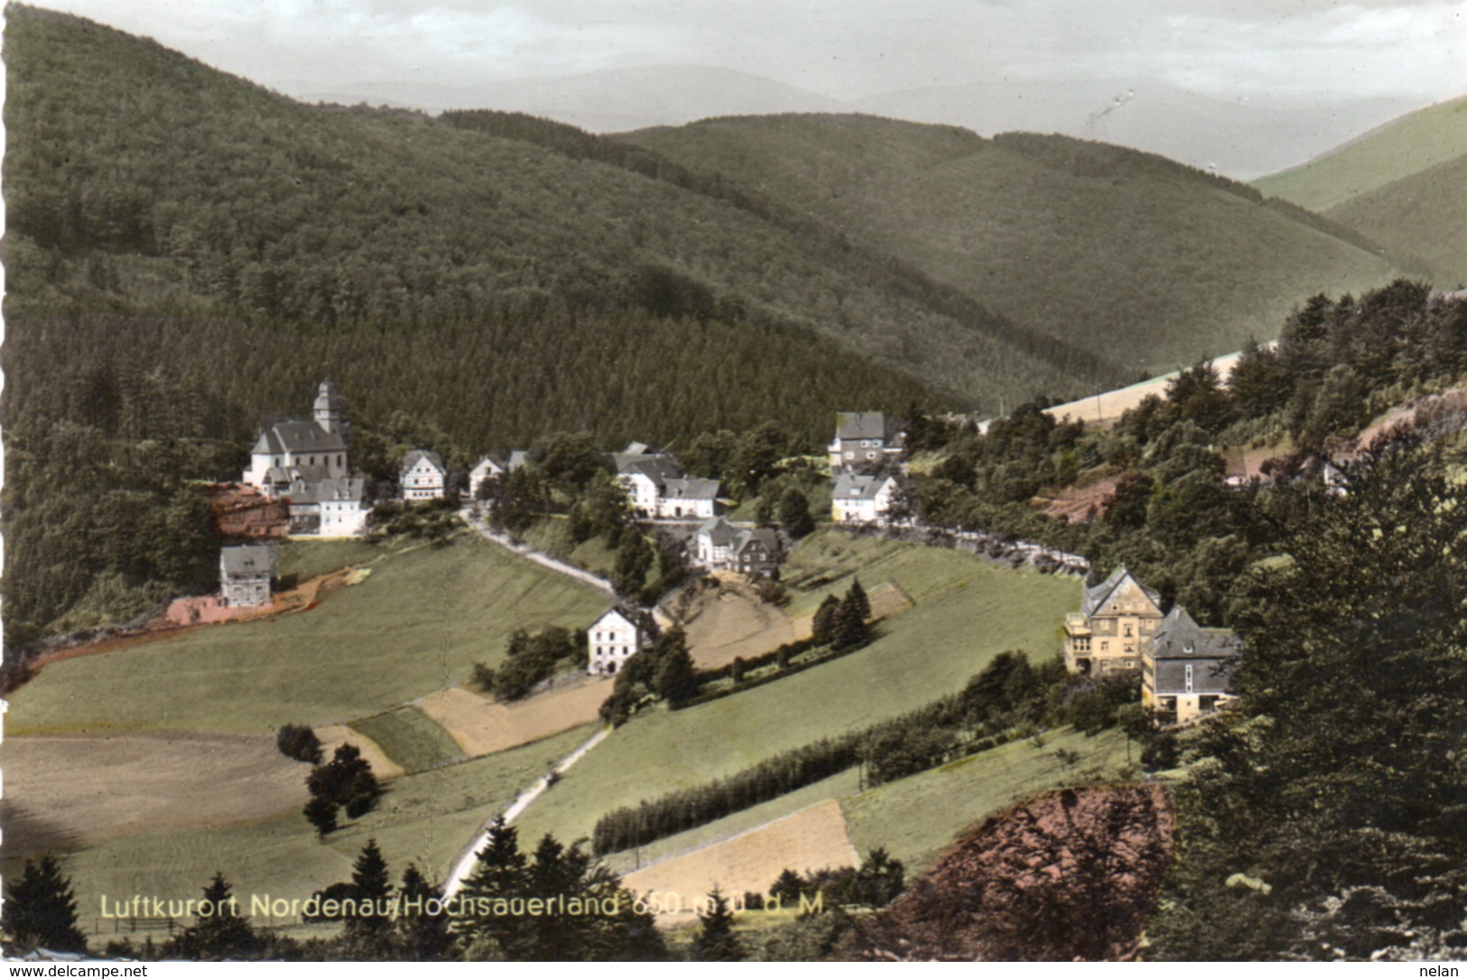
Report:
M1391 276L1369 242L1245 185L1067 136L756 116L621 139L816 215L1133 374L1272 339L1300 296Z

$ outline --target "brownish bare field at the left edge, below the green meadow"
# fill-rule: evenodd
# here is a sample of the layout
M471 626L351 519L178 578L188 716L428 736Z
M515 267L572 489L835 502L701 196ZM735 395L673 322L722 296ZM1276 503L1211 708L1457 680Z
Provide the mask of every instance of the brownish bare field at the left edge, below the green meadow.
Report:
M210 731L7 737L3 764L6 856L266 819L310 774L271 734Z

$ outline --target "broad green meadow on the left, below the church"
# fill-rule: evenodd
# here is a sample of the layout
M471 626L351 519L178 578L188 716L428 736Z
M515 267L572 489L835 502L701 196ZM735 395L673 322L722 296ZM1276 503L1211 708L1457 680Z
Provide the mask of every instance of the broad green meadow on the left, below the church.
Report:
M584 626L604 599L477 535L374 566L318 608L51 664L10 698L12 733L267 730L376 714L497 662L516 627Z

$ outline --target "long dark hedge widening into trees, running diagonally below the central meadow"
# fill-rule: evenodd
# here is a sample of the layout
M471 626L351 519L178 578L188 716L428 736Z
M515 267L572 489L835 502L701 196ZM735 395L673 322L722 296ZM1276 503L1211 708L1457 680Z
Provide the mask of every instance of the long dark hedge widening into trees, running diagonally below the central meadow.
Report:
M1097 733L1122 720L1122 708L1138 696L1134 680L1071 679L1058 660L1033 667L1022 652L1005 652L958 695L851 734L782 752L726 778L612 810L596 822L591 843L596 853L644 846L857 765L864 766L866 784L879 786L996 747L1014 730L1034 731L1040 723L1075 723L1087 733Z

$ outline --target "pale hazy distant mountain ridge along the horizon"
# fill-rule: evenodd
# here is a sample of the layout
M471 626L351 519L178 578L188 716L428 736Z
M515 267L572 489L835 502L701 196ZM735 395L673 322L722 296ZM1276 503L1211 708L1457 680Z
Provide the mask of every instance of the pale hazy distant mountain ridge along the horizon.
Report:
M992 136L1024 130L1100 139L1250 179L1298 164L1416 106L1326 95L1226 101L1159 79L1003 79L833 98L725 67L654 64L491 85L292 82L305 101L522 111L599 133L681 126L719 116L866 113L954 125Z

